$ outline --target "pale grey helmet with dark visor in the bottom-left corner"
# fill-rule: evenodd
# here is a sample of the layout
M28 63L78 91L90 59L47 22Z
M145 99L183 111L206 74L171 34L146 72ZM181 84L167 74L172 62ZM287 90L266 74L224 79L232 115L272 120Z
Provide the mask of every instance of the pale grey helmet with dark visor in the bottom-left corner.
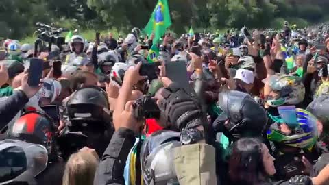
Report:
M42 145L21 140L0 141L0 184L36 185L35 177L47 167L48 153Z

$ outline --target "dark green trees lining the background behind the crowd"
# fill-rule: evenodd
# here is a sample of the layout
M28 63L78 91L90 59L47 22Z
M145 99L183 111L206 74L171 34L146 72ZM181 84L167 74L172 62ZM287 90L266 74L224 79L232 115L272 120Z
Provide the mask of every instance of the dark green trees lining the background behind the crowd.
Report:
M304 27L326 21L329 1L286 0L168 0L172 32L186 33L193 26L217 30L226 27L276 27L284 21ZM157 0L1 0L0 36L24 38L35 31L36 22L79 30L113 30L128 33L143 29ZM327 18L328 19L328 18ZM88 37L89 34L86 34ZM30 37L29 37L30 38Z

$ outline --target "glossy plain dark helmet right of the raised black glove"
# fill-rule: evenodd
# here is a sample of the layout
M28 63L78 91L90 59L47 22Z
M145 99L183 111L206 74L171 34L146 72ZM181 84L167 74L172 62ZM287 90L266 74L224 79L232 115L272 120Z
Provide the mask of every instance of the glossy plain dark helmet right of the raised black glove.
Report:
M242 136L260 136L265 129L265 109L247 93L235 90L219 93L217 106L223 112L213 123L215 132L239 139Z

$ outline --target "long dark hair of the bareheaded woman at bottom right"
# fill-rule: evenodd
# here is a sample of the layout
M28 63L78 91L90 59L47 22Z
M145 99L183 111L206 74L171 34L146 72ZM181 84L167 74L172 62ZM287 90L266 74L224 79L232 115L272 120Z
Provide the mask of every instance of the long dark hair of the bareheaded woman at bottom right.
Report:
M254 185L266 176L262 143L256 138L241 138L232 145L228 175L231 184Z

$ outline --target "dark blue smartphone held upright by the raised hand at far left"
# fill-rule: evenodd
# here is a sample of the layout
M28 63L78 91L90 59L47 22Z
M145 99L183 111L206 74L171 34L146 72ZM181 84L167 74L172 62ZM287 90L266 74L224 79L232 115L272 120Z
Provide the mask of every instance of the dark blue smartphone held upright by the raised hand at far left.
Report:
M29 75L27 78L27 84L32 87L36 87L40 84L42 78L43 60L40 58L29 59Z

